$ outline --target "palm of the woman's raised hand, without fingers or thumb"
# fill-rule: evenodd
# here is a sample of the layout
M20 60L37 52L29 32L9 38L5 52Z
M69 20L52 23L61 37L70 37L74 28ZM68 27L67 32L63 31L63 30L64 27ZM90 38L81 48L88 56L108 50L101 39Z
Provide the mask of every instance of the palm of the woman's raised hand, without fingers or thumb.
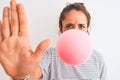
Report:
M29 73L36 66L32 53L28 38L22 36L10 37L0 43L0 61L7 74L11 76L17 75L17 72L19 74Z

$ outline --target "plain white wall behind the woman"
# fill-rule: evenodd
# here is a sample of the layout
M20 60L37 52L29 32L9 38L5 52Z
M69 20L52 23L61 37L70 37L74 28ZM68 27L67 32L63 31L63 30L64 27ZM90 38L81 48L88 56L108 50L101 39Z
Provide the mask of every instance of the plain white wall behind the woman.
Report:
M84 2L92 16L91 39L107 65L107 80L120 80L120 1L119 0L18 0L25 6L33 49L46 38L54 47L58 37L59 14L67 2ZM2 9L9 0L0 0ZM9 67L9 65L8 65ZM0 80L8 80L0 66Z

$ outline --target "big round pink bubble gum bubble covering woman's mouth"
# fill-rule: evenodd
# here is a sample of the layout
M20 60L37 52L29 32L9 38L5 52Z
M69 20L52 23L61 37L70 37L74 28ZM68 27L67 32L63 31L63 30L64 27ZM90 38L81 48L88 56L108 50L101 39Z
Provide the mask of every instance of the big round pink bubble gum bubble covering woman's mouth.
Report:
M60 59L67 64L83 64L92 54L90 37L81 30L67 30L60 35L56 51Z

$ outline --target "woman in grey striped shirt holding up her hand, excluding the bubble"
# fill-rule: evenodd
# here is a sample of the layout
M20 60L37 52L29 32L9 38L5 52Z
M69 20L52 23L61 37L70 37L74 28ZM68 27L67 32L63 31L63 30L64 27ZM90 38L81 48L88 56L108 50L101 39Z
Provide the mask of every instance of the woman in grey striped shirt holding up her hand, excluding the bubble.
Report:
M89 25L90 14L83 3L69 4L60 14L61 33L79 29L89 34ZM13 80L105 80L105 64L97 51L86 63L71 66L59 59L55 48L46 49L49 44L49 39L44 40L32 51L24 8L11 0L0 22L0 62Z

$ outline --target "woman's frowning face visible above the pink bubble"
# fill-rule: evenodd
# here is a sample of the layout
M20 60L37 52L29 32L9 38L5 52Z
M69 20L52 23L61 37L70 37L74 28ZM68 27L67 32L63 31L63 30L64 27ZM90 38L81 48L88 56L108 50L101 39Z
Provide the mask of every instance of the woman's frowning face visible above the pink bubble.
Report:
M62 21L62 32L69 29L79 29L88 32L87 17L82 11L71 10Z

